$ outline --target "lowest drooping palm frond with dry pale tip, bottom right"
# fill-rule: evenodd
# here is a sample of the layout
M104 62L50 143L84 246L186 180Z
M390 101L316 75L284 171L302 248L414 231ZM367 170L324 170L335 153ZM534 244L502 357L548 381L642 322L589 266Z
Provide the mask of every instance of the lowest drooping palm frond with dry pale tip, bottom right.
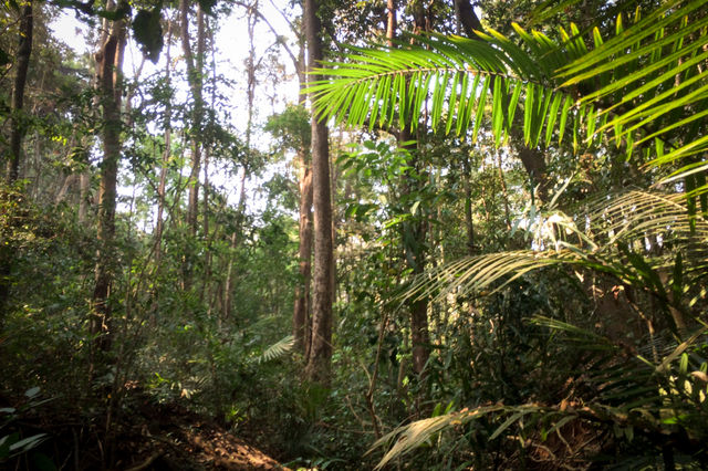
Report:
M566 339L573 342L575 348L592 350L598 355L620 349L608 338L568 323L540 316L531 322L569 334ZM674 343L657 362L635 357L623 362L615 359L610 367L602 363L594 365L594 368L586 368L582 371L583 380L601 385L596 397L587 397L571 405L497 404L465 408L397 427L374 442L368 453L382 448L386 450L376 465L376 469L383 469L392 460L431 442L441 432L464 432L464 426L482 418L496 423L494 431L488 438L490 441L502 438L517 423L522 426L510 435L514 440L532 437L534 440L545 441L553 433L563 440L563 427L574 420L583 420L598 428L614 427L615 432L644 435L649 440L657 440L658 446L664 444L669 437L686 437L684 431L675 427L681 423L696 433L690 440L700 443L701 437L708 431L700 422L708 411L708 389L704 380L706 358L698 360L700 370L691 371L685 352L705 342L706 331L708 328L701 327L687 341L678 345Z

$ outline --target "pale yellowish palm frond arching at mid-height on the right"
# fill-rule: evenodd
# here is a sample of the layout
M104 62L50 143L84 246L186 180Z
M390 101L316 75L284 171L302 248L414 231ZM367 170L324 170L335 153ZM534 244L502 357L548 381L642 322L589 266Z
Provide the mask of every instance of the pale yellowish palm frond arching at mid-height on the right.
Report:
M469 295L498 291L531 271L564 264L608 273L667 297L657 270L673 266L674 254L656 255L650 263L642 255L647 244L650 249L659 243L681 245L685 252L680 261L683 284L705 276L708 220L690 214L683 195L629 190L585 206L587 212L575 218L556 212L534 222L552 239L552 249L460 259L423 274L404 296L442 300L448 293Z

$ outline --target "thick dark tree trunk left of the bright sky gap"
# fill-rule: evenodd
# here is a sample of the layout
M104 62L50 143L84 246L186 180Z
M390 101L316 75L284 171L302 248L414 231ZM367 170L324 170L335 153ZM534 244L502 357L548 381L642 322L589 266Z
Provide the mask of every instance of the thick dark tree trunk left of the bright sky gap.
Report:
M110 1L108 10L115 10ZM98 224L95 287L91 333L97 336L97 347L107 350L111 346L111 285L115 265L115 205L118 161L121 159L121 86L123 51L125 48L125 23L123 20L105 21L108 30L100 51L96 53L96 75L101 108L103 111L103 161L101 164L101 187L98 190Z

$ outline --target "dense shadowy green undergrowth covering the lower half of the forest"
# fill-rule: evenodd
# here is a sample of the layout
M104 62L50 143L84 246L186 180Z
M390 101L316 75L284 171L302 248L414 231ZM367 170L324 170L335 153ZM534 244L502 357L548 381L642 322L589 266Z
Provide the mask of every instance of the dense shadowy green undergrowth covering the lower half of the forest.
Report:
M396 465L706 463L705 334L699 328L676 344L668 311L650 334L637 312L658 308L657 301L611 274L585 271L583 279L582 270L551 266L482 299L448 293L431 316L425 376L415 377L405 316L387 307L382 316L372 295L385 272L361 270L383 259L358 258L343 274L356 278L360 291L339 305L334 375L324 389L300 379L289 313L251 311L262 306L256 292L240 292L243 307L230 318L209 312L198 287L170 285L167 274L136 295L140 275L131 271L148 270L149 262L135 262L147 236L121 241L116 335L110 350L96 352L86 324L91 239L69 208L17 196L6 197L6 208L3 262L10 260L12 283L0 337L3 465L122 469L159 454L170 469L218 467L208 458L190 462L197 451L175 450L189 440L168 428L214 423L290 467L374 468L382 454L367 454L372 443L421 419L419 437L407 439L417 451L395 457ZM249 263L261 251L275 260L277 249L262 242L241 250ZM280 270L292 276L292 266ZM701 306L701 293L694 294ZM273 302L290 299L285 292ZM628 299L636 312L626 311ZM147 447L142 428L171 444Z

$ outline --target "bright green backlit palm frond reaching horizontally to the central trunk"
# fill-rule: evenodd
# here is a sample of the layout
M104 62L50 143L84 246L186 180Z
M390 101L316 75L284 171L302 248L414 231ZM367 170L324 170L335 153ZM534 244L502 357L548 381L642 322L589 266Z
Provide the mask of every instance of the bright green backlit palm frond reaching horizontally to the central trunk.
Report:
M446 133L470 132L472 138L491 102L498 143L524 104L527 142L535 145L543 129L550 139L555 126L562 139L573 100L570 88L555 90L552 74L566 63L563 53L541 33L518 31L533 55L491 30L478 39L415 36L413 45L353 49L346 62L325 62L320 73L329 78L308 91L322 118L369 128L397 121L415 129L425 116L434 128L445 124Z

